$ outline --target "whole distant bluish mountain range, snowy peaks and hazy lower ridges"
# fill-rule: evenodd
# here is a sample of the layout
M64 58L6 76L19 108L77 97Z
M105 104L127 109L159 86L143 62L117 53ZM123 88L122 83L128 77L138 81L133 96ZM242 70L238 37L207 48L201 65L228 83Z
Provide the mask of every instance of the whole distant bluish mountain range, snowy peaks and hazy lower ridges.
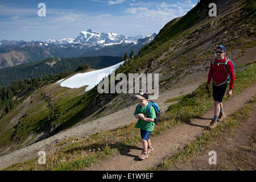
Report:
M0 68L31 63L49 57L123 56L154 40L156 34L127 37L121 34L81 31L77 38L49 39L46 42L0 41ZM102 49L103 48L103 49Z

